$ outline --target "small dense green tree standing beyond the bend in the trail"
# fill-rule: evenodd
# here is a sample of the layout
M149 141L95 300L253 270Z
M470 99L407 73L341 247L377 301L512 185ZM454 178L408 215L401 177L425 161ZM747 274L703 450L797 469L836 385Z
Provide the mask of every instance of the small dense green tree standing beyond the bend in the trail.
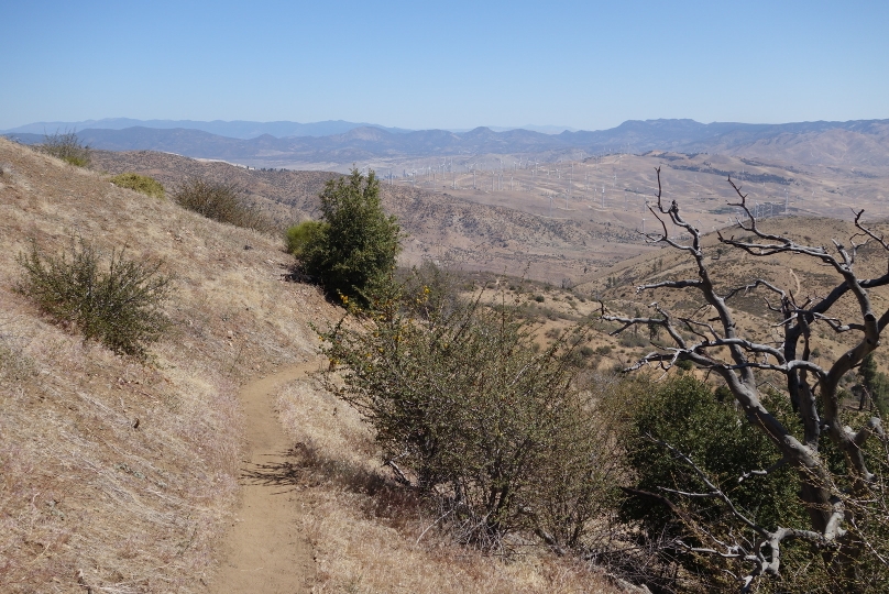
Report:
M303 265L328 295L342 295L366 305L367 289L395 266L400 230L395 217L383 212L380 182L352 169L331 179L319 196L326 232L303 250Z

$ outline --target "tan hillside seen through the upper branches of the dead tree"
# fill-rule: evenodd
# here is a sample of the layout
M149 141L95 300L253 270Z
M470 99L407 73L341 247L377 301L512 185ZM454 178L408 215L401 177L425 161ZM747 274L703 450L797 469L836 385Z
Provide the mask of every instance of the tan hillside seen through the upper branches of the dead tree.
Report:
M769 219L760 221L759 227L764 232L782 234L798 243L824 246L827 250L833 249L832 239L849 245L849 238L857 232L853 223L847 221L801 217ZM868 227L881 233L889 231L889 224L886 223L868 223ZM722 233L737 239L751 238L750 232L738 229L724 229ZM856 238L856 242L863 241L861 237ZM762 278L779 288L792 292L798 302L802 304L809 297L825 296L842 283L842 277L833 268L810 257L783 254L755 257L740 250L720 244L715 233L707 234L703 245L709 255L711 275L723 294L733 287L743 287L756 278ZM855 270L861 278L880 276L886 272L886 257L882 248L871 242L859 249ZM709 314L706 310L699 310L701 298L692 289L636 290L639 285L695 277L696 267L689 256L678 250L662 248L656 253L640 255L602 271L597 273L595 279L577 287L577 290L603 299L612 311L622 315L633 316L637 311L641 316L656 315L651 304L657 302L676 315L694 315L696 319L704 319ZM612 286L608 286L608 279ZM885 311L889 307L889 290L886 288L874 289L870 295L876 311ZM743 332L749 332L754 339L771 342L778 338L778 329L773 324L781 320L778 314L768 309L764 298L773 300L772 295L762 290L751 290L738 294L729 299L728 305L735 310ZM857 302L850 294L839 299L832 308L831 315L845 321L856 321L860 317ZM814 327L812 349L817 348L826 362L832 356L845 352L859 339L858 332L837 334L821 323ZM645 344L628 354L638 358L649 351L651 346ZM878 350L875 354L882 365L889 363L882 351Z

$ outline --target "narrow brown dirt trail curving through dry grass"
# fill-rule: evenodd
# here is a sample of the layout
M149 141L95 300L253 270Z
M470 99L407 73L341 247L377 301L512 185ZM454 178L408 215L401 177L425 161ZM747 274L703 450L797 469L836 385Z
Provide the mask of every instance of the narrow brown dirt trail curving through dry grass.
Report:
M243 498L222 544L224 561L209 591L220 594L308 593L315 582L311 544L300 534L301 514L286 486L256 481L257 468L287 463L287 440L273 408L272 392L281 384L317 370L318 361L285 367L253 381L240 394L246 417L248 452L241 484Z

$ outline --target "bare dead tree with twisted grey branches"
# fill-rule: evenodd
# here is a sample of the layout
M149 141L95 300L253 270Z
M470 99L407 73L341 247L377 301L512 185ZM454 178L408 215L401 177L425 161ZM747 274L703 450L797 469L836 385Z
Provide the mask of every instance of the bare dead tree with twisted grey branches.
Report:
M877 349L880 334L889 323L889 310L878 315L874 311L870 298L872 289L889 285L889 272L876 278L859 278L855 272L856 255L865 243L877 243L887 254L889 243L882 235L865 227L861 222L863 210L855 215L857 232L849 238L847 244L834 240L831 249L802 245L790 238L765 232L757 226L746 195L729 177L728 184L738 197L738 201L729 202L729 206L740 209L746 218L736 221L736 228L744 231L744 237L735 239L735 235L718 233L722 244L743 250L753 257L794 254L814 258L833 268L841 280L825 296L808 298L804 302L799 302L800 296L783 290L765 278L754 278L744 286L717 287L705 260L700 230L683 219L676 201L667 205L661 199L659 168L657 174L657 200L649 205L649 210L660 226L657 232L646 233L647 241L666 244L687 254L696 265L696 275L687 279L643 285L637 287L637 293L657 289L698 292L703 299L702 307L695 314L682 317L672 315L666 307L654 302L651 308L655 315L651 317L629 318L608 312L603 304L602 319L621 324L613 334L644 324L662 328L671 339L669 348L656 348L626 371L651 365L667 370L680 361L690 361L699 369L722 377L747 420L775 444L779 458L776 466L791 464L799 473L800 498L810 516L809 526L804 527L759 526L738 510L725 492L711 482L693 460L682 452L671 450L706 485L704 493L672 491L673 494L720 501L728 514L757 535L753 542L747 543L726 542L711 536L710 546L693 549L698 553L736 559L744 563L748 570L745 570L746 575L740 576L742 591L748 592L760 575L778 574L783 541L802 539L820 552L827 563L828 572L846 584L844 587L848 587L847 591L854 592L863 587L860 576L856 573L861 556L872 554L879 563L886 563L879 547L868 541L868 537L860 530L868 509L886 508L879 476L868 468L863 447L871 439L880 440L885 446L886 433L878 417L864 421L856 429L843 425L838 383L845 373ZM679 233L671 234L670 230L678 230ZM690 239L674 239L679 234ZM775 324L780 338L773 342L757 342L738 331L731 300L753 290L765 292L767 306L780 315L781 321ZM854 321L844 321L831 315L832 307L846 294L854 296L857 304ZM855 336L855 345L828 366L815 363L811 356L810 339L816 324L823 324L836 333ZM762 404L759 386L764 382L764 375L773 374L783 376L786 394L804 428L801 440ZM825 437L844 454L846 469L843 476L834 475L819 454L819 444ZM663 447L671 448L667 443ZM885 459L880 461L880 464L885 463ZM768 472L770 470L753 470L749 474ZM885 527L886 515L880 515L876 521L882 522ZM699 530L698 534L702 532ZM704 529L703 534L709 532Z

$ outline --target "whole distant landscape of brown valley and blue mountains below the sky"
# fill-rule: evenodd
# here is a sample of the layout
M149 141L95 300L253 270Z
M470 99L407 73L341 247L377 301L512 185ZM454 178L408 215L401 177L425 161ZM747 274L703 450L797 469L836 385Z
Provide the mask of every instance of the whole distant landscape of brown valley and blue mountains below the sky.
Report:
M259 131L284 124L238 125ZM298 125L321 130L327 123ZM731 226L738 216L728 206L736 199L729 176L764 218L850 219L853 207L871 218L889 216L889 120L776 125L651 120L559 134L337 125L352 128L252 140L144 127L87 129L78 136L102 148L100 168L145 173L168 190L195 176L237 182L281 224L317 217L316 196L331 175L353 166L374 169L387 208L409 233L406 264L433 258L553 284L581 283L656 249L641 233L655 224L647 205L657 194L657 167L663 196L678 200L704 231ZM299 151L309 161L292 161Z

